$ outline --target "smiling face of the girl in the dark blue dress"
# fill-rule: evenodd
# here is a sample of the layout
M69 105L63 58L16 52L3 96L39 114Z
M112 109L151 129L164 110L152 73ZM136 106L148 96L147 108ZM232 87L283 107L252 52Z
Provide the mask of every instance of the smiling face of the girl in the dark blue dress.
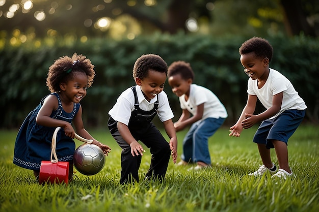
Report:
M61 95L64 101L79 103L87 94L88 76L83 72L76 72L73 79L61 83Z

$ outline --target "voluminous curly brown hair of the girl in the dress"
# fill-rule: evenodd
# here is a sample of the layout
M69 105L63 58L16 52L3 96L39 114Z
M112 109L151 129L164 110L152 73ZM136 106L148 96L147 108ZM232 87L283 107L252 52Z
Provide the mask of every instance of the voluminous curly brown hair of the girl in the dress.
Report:
M60 83L72 80L78 72L85 73L88 76L88 87L90 87L95 76L91 60L82 54L77 55L76 53L72 57L62 56L49 67L46 86L52 93L60 92Z

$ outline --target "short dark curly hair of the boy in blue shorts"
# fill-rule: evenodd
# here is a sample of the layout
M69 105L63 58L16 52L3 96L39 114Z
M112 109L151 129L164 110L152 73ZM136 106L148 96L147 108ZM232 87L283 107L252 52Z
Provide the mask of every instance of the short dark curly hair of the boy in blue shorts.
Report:
M273 57L273 47L265 39L259 37L253 37L245 41L239 49L241 55L254 52L256 58L268 57L271 61Z

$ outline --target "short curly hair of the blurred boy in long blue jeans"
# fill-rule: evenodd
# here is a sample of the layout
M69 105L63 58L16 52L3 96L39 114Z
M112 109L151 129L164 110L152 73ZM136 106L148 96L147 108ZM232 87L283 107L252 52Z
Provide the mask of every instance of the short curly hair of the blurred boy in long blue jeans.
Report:
M184 80L194 80L194 72L191 65L182 60L175 61L168 67L168 78L177 74L180 74L181 78Z

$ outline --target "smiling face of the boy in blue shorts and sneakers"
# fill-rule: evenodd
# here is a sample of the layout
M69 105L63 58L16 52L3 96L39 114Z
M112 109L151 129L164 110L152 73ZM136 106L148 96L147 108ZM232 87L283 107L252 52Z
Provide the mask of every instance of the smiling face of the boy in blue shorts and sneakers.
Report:
M267 79L269 74L269 59L257 58L254 52L241 55L241 63L245 73L252 79Z

